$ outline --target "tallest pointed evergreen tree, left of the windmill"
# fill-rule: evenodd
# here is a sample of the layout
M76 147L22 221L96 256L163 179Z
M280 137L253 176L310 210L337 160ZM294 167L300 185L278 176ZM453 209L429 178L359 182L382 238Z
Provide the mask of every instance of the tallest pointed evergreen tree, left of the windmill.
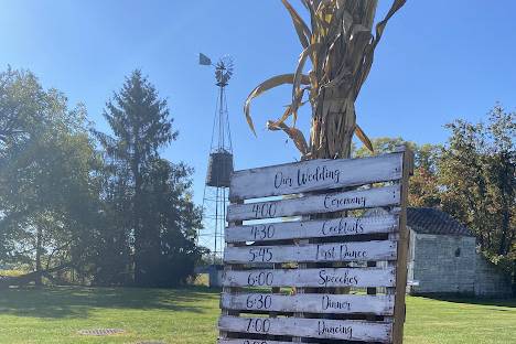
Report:
M114 137L97 136L112 162L112 185L118 194L114 200L118 200L118 208L122 212L118 225L129 227L126 233L133 251L133 281L137 286L155 286L155 277L159 276L155 269L165 255L163 243L166 241L166 233L178 236L174 245L179 238L191 245L193 241L189 239L185 227L197 226L193 221L174 227L174 223L191 215L189 212L195 212L189 201L190 211L171 213L179 207L174 202L184 196L187 187L180 193L174 192L180 184L187 184L183 179L190 174L179 173L181 168L159 157L159 149L174 140L178 131L172 129L166 100L159 98L154 86L138 69L107 103L104 116ZM125 223L123 219L129 221ZM180 261L176 264L181 265Z

